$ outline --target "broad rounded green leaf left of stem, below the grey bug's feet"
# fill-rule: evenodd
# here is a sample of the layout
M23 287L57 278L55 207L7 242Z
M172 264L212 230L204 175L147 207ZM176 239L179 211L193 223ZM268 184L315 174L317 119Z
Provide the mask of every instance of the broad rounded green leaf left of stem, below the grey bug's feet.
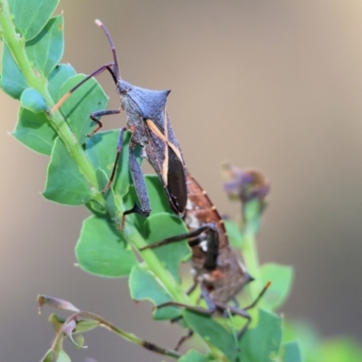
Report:
M138 263L114 224L96 216L83 222L75 253L81 269L105 277L129 275Z

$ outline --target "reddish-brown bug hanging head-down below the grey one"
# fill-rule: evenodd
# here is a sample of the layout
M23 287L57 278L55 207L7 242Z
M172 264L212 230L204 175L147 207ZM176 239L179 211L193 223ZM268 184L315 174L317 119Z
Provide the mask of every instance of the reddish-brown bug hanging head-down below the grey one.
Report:
M189 233L183 233L158 243L149 244L140 250L143 251L188 239L188 244L192 248L191 263L194 283L187 291L187 294L195 291L196 286L199 284L201 297L207 304L207 310L176 301L168 301L158 305L157 308L177 306L204 314L223 314L226 310L229 310L232 315L238 315L247 319L243 329L240 329L237 333L237 338L241 338L252 321L247 310L250 310L257 304L271 283L268 282L256 300L243 309L227 304L229 301L236 301L236 294L247 283L253 281L253 278L230 248L224 221L205 193L205 190L196 182L193 176L188 173L186 176L188 199L185 223L190 230ZM186 337L181 338L176 349L181 346L186 338L191 336L192 331Z

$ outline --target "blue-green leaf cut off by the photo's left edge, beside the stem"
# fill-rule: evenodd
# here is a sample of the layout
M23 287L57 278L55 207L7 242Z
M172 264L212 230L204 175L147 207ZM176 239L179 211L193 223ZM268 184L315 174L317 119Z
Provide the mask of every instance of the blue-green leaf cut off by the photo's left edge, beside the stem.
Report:
M27 82L14 61L5 39L3 39L2 71L1 87L10 97L19 100L23 90L27 88Z

